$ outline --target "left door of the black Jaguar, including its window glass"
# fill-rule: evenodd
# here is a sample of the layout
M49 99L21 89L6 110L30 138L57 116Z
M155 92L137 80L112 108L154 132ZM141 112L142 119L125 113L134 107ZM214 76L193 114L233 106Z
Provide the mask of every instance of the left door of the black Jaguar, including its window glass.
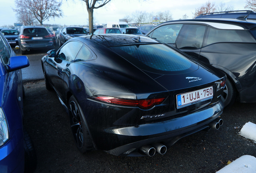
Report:
M54 58L49 58L48 73L52 85L61 98L65 97L64 78L69 77L68 66L74 62L77 53L83 44L77 41L70 41L60 48Z

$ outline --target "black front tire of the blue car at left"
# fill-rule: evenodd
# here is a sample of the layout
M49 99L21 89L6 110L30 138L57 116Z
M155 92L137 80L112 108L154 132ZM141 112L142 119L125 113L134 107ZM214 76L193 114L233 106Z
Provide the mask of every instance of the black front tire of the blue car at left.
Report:
M26 130L23 130L23 144L25 151L25 173L33 173L37 167L37 157L32 140Z

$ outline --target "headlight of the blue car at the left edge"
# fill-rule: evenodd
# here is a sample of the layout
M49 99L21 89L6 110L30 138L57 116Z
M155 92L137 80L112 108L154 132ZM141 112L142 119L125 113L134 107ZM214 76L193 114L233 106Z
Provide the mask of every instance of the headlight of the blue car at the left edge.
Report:
M0 107L0 147L9 139L9 130L3 109Z

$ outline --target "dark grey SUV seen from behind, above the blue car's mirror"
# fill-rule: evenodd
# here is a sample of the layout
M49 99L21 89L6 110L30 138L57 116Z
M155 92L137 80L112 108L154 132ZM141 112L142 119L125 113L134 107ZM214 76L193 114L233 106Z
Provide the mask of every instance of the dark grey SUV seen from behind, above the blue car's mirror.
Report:
M21 54L29 50L54 48L52 35L43 26L22 26L18 37Z

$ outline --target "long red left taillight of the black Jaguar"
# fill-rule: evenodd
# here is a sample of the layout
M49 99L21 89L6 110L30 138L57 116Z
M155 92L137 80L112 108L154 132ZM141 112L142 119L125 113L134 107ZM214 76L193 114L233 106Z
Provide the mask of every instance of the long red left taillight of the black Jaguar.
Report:
M158 99L122 99L117 97L109 97L109 96L93 96L90 99L101 101L104 103L114 104L114 105L122 105L122 106L130 106L130 107L139 107L141 109L150 109L155 105L159 105L163 103L166 98L158 98Z

